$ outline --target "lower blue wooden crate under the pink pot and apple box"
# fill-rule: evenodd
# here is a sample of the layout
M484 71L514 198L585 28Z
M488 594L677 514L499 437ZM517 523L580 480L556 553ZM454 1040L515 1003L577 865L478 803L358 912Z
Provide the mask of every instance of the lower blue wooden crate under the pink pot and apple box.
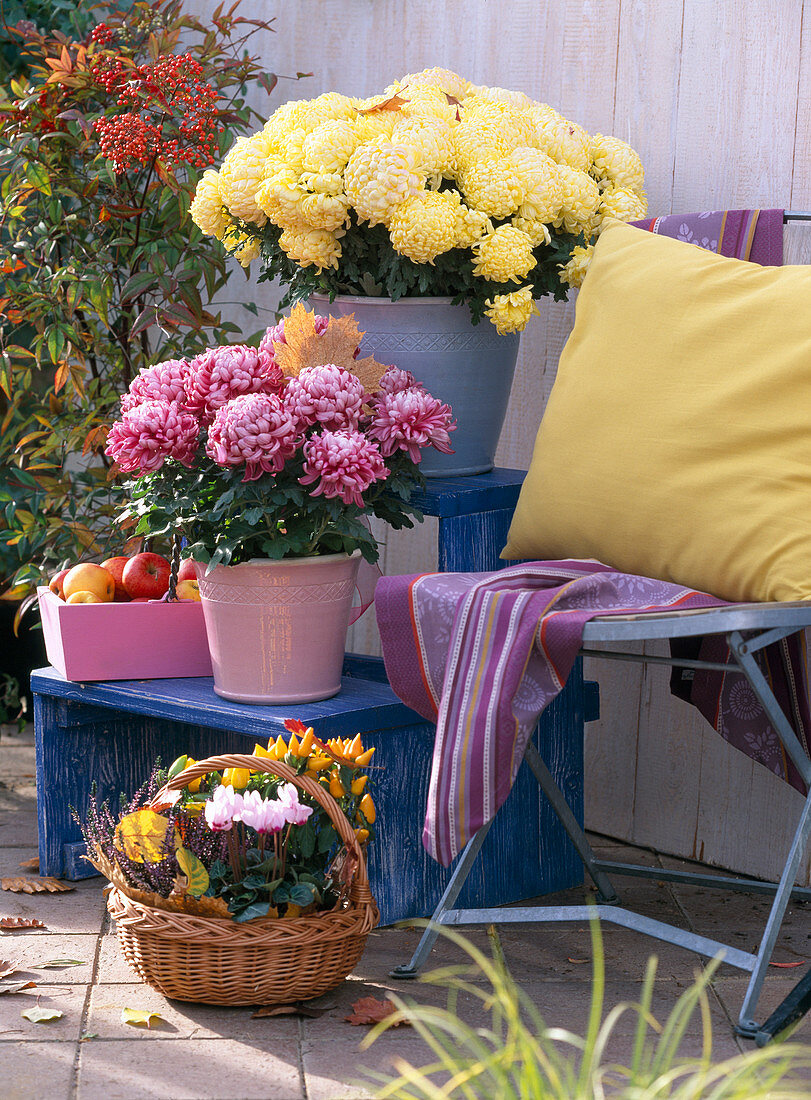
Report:
M375 673L374 662L360 669ZM350 669L351 670L351 669ZM157 756L169 763L246 752L300 718L319 737L361 733L377 749L372 773L376 839L369 876L384 924L428 916L449 878L421 845L434 726L385 683L347 676L335 698L297 707L244 706L220 698L208 679L76 684L53 669L32 675L36 730L40 868L43 875L92 873L70 806L83 813L90 781L118 804L144 781ZM556 781L582 815L582 698L579 672L548 708L536 735ZM520 837L520 844L516 844ZM582 864L526 765L496 817L462 893L470 908L518 901L582 881Z

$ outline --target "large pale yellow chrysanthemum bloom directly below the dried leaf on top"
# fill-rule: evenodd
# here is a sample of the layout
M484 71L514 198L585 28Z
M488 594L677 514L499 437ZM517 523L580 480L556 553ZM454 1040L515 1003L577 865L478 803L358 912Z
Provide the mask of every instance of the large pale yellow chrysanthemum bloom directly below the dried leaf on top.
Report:
M415 150L390 141L361 145L343 173L347 198L370 226L386 224L396 207L421 191L424 184Z

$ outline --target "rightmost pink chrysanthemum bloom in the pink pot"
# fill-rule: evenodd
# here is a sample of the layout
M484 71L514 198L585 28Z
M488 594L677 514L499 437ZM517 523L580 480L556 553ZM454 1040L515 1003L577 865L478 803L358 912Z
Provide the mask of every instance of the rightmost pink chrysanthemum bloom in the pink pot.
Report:
M419 449L429 444L452 454L448 432L454 428L450 406L417 386L377 398L366 430L380 441L383 454L407 451L412 462L419 462Z

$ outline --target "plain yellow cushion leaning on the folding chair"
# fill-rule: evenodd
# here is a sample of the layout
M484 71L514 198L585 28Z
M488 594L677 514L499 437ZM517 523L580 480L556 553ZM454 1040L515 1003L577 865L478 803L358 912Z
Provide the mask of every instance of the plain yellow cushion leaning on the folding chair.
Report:
M502 557L811 598L811 267L611 222Z

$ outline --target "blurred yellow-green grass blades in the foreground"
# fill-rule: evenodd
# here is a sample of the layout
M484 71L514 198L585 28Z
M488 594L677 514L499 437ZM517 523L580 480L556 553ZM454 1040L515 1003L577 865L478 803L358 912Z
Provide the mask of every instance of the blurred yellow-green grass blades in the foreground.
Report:
M383 1098L418 1100L802 1100L805 1081L792 1072L811 1067L811 1047L772 1044L760 1050L712 1062L712 1026L708 988L720 965L714 960L678 999L660 1023L651 1012L656 958L648 960L639 1000L616 1005L603 1020L605 960L600 922L592 921L593 983L585 1036L548 1027L534 1002L516 986L504 963L495 928L489 930L493 957L463 936L442 935L461 947L471 964L445 967L421 980L449 990L448 1009L414 1004L397 997L397 1011L379 1024L369 1046L387 1027L407 1021L434 1053L434 1060L413 1066L401 1060L397 1074L372 1075ZM484 979L484 981L482 981ZM460 993L490 1014L490 1025L470 1027L454 1005ZM699 1011L702 1050L683 1058L679 1049ZM631 1064L606 1058L617 1021L636 1016ZM439 1084L437 1084L439 1082Z

